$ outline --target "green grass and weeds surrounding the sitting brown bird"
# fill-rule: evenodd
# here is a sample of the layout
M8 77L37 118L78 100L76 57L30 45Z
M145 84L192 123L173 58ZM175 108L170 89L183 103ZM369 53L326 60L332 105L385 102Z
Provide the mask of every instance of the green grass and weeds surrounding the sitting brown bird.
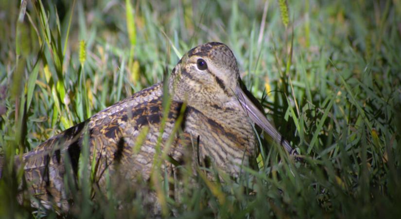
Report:
M400 1L0 5L0 216L57 217L17 201L22 172L10 158L162 81L192 47L220 41L304 161L263 143L259 170L242 179L188 175L175 200L161 181L152 189L164 217L401 218ZM141 196L120 199L110 186L92 199L90 177L80 182L62 217L149 216Z

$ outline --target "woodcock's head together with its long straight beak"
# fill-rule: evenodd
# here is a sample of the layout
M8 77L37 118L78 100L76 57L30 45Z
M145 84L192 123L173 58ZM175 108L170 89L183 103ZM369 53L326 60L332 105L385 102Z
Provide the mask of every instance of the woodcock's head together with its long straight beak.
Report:
M223 43L209 42L185 54L173 69L169 91L175 101L186 102L198 110L233 103L263 128L287 151L291 146L247 97L240 86L240 73L232 51Z

